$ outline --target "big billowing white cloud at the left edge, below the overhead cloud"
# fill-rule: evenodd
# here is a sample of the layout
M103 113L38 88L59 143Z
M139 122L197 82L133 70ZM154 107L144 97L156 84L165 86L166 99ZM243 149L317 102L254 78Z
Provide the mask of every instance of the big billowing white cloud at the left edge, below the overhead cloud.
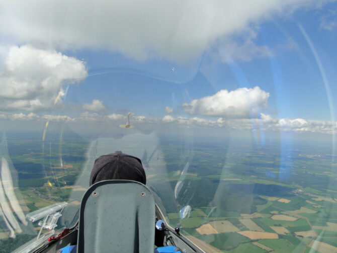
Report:
M62 104L62 86L87 76L83 62L30 45L12 46L0 72L2 110L48 110Z

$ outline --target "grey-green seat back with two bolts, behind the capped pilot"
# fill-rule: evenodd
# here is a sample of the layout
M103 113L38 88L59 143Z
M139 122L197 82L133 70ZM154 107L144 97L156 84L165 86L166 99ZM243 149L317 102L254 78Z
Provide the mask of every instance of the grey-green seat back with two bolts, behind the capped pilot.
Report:
M77 252L153 252L155 204L141 183L107 180L83 196Z

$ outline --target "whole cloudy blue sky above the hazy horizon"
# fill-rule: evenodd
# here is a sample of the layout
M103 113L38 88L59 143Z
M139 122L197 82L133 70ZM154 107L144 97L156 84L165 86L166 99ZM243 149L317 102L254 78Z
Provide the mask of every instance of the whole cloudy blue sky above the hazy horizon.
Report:
M334 135L336 13L324 0L5 1L0 130L121 131L132 112L141 131Z

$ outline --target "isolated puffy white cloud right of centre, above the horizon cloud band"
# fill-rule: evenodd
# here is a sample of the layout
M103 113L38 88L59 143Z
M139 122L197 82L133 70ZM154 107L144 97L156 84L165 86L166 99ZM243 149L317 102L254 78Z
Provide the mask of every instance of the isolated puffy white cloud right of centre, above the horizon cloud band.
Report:
M268 98L269 93L259 87L239 88L231 92L221 90L213 96L195 99L182 106L191 115L245 118L268 108Z

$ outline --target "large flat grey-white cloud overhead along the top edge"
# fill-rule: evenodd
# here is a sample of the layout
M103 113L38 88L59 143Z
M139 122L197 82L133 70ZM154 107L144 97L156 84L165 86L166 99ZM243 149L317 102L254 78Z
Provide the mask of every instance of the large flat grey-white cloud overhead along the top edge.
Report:
M274 15L327 0L75 1L15 0L0 11L0 36L60 48L104 48L135 59L185 62L219 38ZM47 10L51 10L49 12ZM95 10L93 12L93 10ZM238 48L239 49L239 48ZM258 51L261 51L257 48ZM263 49L263 48L262 48ZM255 52L260 54L261 52Z

